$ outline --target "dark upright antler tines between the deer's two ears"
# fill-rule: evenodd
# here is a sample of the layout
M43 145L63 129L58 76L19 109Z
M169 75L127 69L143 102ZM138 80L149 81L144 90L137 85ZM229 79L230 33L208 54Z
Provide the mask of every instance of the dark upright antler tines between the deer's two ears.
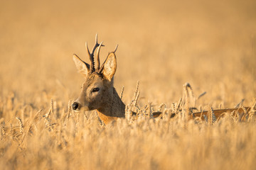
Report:
M90 73L95 72L94 52L95 52L96 48L99 47L99 46L104 46L104 45L102 45L102 42L100 44L97 42L97 34L95 36L95 46L92 48L92 53L90 53L87 42L85 42L85 47L87 49L87 53L89 55L90 62L91 62L91 64L90 64ZM100 67L99 52L100 52L100 47L97 50L97 60L96 60L97 61L97 69L99 69L99 67Z

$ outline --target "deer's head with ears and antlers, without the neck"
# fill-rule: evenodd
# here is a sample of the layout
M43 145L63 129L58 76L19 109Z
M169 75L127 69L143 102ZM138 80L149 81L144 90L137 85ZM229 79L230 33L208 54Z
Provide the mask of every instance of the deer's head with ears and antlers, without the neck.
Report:
M113 77L117 69L117 59L114 52L116 52L117 47L114 52L107 55L107 59L100 67L100 47L104 45L102 45L102 42L100 44L97 42L97 35L92 53L90 53L87 43L85 46L90 64L83 62L77 55L73 55L78 71L85 77L80 97L72 105L74 111L79 111L81 108L85 111L104 108L113 98ZM95 60L94 52L96 49Z

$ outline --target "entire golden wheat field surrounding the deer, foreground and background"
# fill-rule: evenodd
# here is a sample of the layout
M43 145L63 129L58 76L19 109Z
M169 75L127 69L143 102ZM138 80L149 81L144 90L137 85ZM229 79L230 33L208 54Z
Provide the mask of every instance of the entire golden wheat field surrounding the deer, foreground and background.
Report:
M169 118L186 101L186 82L198 111L255 108L255 8L253 0L0 1L0 169L255 169L253 111L245 122ZM124 103L139 81L137 107L163 118L101 125L95 111L70 109L84 81L72 56L89 62L85 42L92 47L96 33L101 61L119 45L114 87L124 86Z

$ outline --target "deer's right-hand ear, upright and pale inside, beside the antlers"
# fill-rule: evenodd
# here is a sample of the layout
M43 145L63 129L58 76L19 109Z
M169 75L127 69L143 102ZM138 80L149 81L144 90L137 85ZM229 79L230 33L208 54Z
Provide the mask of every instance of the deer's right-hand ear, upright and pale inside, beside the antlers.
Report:
M117 58L114 55L114 52L110 52L110 54L107 56L107 60L104 63L102 74L107 78L108 81L111 81L116 70Z

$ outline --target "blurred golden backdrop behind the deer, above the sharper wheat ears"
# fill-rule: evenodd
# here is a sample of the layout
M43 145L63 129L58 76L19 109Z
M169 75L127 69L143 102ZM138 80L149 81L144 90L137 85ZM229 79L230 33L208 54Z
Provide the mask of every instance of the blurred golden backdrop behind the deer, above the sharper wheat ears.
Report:
M117 50L114 86L131 101L171 103L189 82L201 105L233 107L256 96L256 1L1 1L0 94L24 103L80 94L73 53L89 62ZM45 98L44 100L42 98Z

